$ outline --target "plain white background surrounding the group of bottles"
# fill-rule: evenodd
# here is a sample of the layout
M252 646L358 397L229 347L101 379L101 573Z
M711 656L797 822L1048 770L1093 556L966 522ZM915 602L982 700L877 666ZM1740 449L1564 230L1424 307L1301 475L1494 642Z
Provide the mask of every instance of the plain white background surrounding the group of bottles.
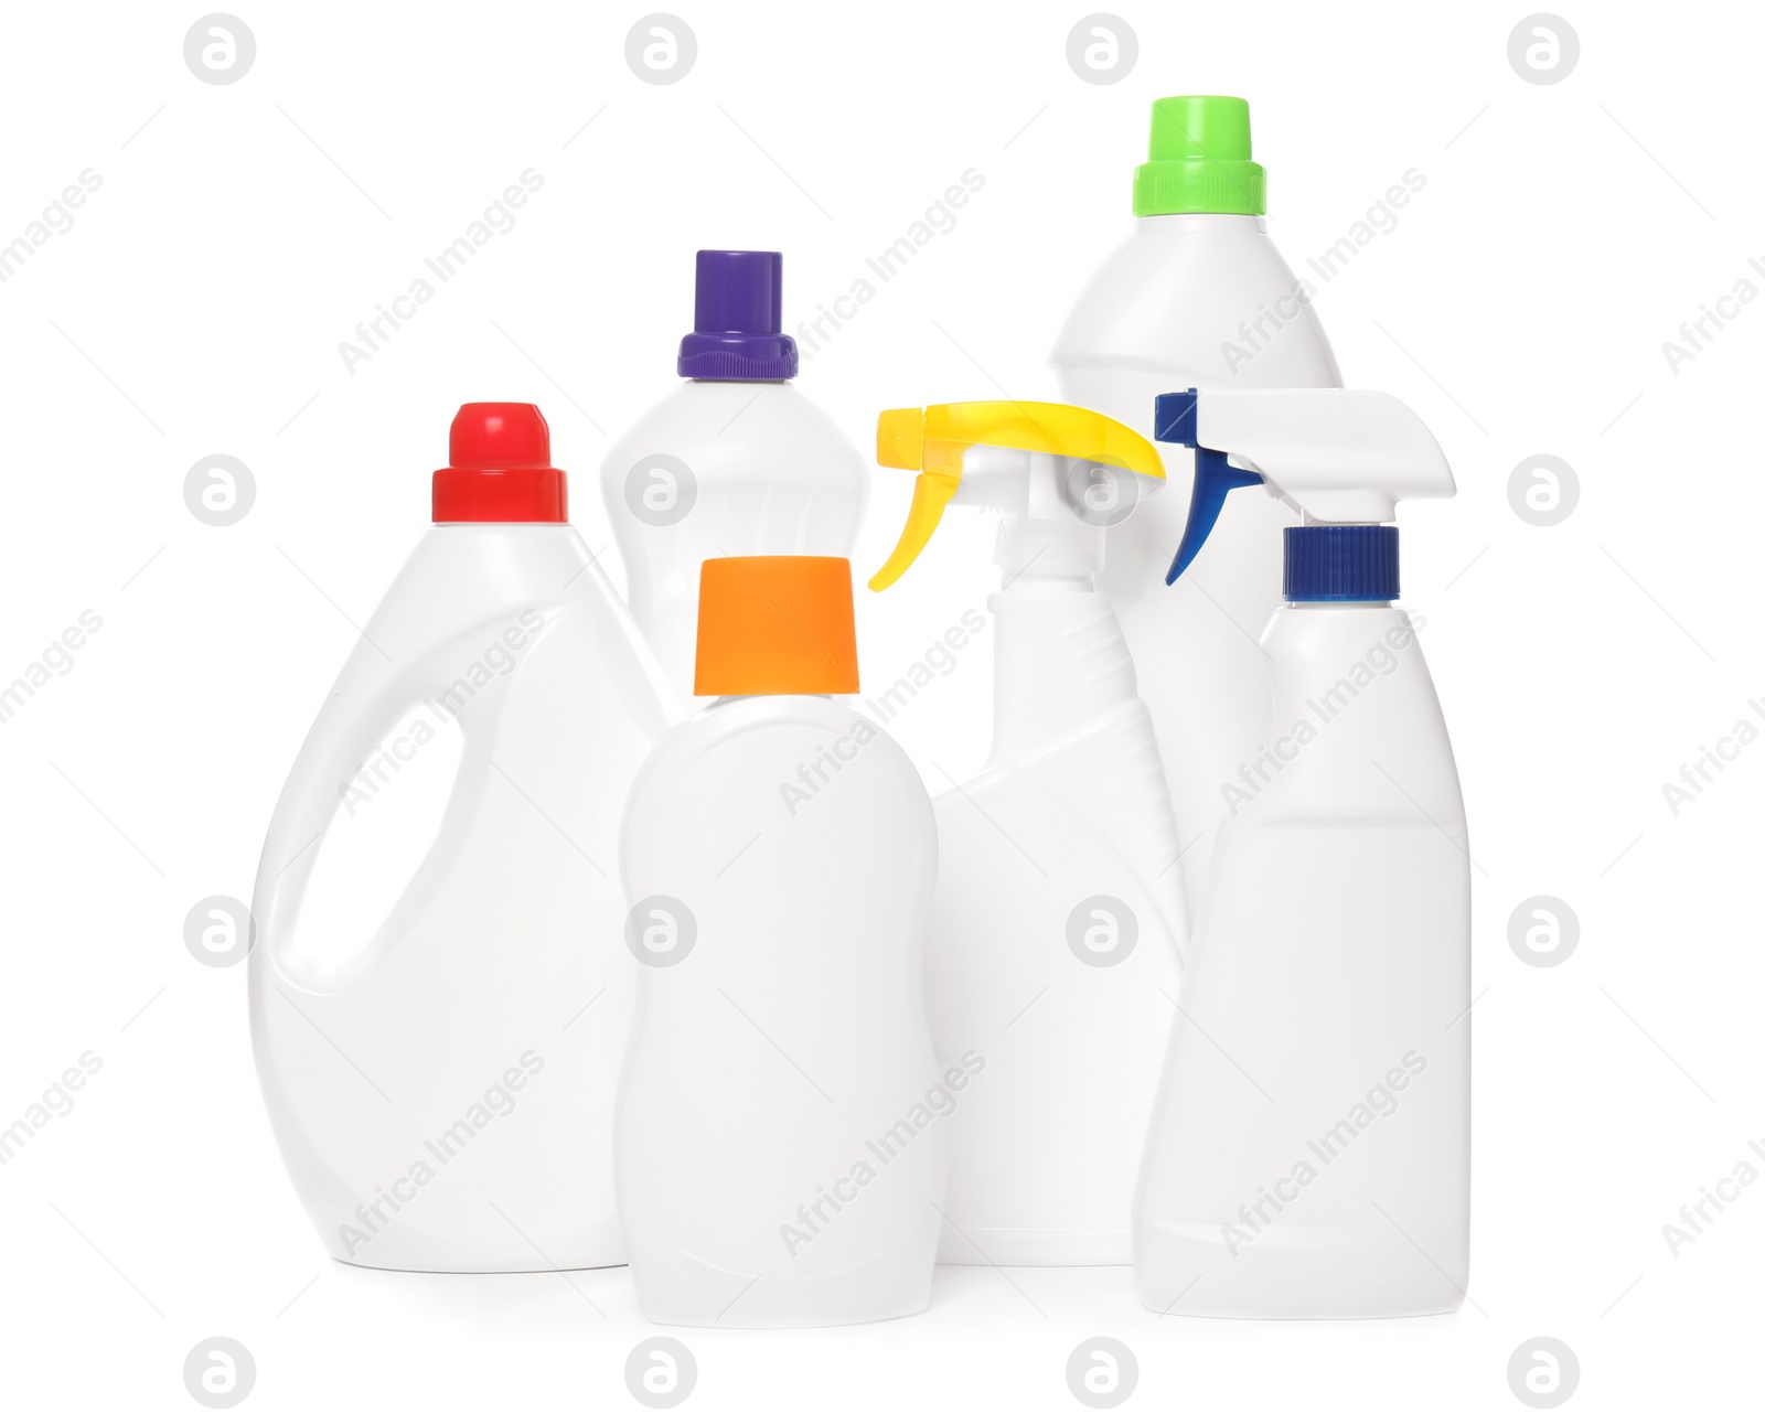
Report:
M1078 1419L1064 1366L1089 1336L1138 1359L1123 1419L1527 1417L1507 1360L1541 1334L1580 1359L1566 1417L1756 1413L1765 1184L1677 1258L1661 1226L1765 1136L1765 748L1679 815L1661 783L1765 729L1765 304L1677 374L1661 344L1765 254L1765 14L1580 5L1578 67L1532 85L1507 62L1523 5L1124 4L1138 62L1091 85L1066 62L1082 4L680 11L699 55L665 86L625 64L641 5L238 0L258 53L224 86L184 64L198 5L0 14L0 244L102 176L0 286L0 681L102 618L0 725L0 1119L104 1062L0 1168L0 1412L198 1417L184 1357L231 1336L258 1364L242 1419L648 1417L623 1362L658 1330L623 1270L328 1260L263 1117L245 971L194 962L184 916L249 900L461 401L544 408L600 549L600 455L674 381L694 249L782 249L794 325L969 168L957 228L801 386L860 445L884 406L1052 399L1055 328L1131 221L1147 104L1216 92L1251 101L1296 270L1426 175L1315 300L1347 381L1408 401L1460 478L1407 515L1405 586L1477 866L1472 1302L1214 1323L1144 1311L1128 1270L941 1269L914 1320L669 1330L699 1362L680 1417ZM519 226L346 372L337 344L528 168ZM182 498L215 452L258 483L231 528ZM1581 483L1553 528L1506 494L1539 452ZM877 475L861 573L907 480ZM985 607L990 529L948 522L916 577L861 595L867 683ZM985 755L988 656L891 723L934 792L932 759L962 778ZM1509 949L1532 895L1580 916L1555 969Z

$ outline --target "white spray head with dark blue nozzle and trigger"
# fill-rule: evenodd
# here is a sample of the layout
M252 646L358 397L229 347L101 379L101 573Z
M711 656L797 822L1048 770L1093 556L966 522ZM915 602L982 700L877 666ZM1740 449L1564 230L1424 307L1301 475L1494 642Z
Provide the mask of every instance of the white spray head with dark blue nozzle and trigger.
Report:
M1174 392L1158 397L1153 436L1195 450L1195 496L1167 584L1244 485L1267 485L1306 524L1389 524L1400 499L1454 494L1433 434L1380 390Z

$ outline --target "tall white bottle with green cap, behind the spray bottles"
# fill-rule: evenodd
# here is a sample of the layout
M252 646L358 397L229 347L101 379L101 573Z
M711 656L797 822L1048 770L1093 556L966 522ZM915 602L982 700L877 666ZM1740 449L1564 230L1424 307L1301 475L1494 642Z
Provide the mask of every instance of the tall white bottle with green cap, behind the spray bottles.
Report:
M1054 348L1061 395L1151 434L1153 401L1188 386L1340 386L1311 307L1269 240L1266 175L1250 157L1243 99L1153 104L1151 159L1133 178L1133 233L1103 263ZM1121 618L1153 711L1191 907L1200 907L1221 785L1269 720L1257 637L1280 603L1276 501L1241 510L1172 593L1170 551L1188 517L1188 464L1108 535L1098 586ZM1197 695L1197 690L1204 690Z

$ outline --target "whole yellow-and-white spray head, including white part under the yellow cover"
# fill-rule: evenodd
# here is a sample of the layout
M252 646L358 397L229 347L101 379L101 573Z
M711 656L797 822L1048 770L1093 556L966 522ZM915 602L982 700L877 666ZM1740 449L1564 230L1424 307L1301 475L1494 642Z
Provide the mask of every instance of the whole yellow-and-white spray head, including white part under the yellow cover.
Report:
M1112 522L1110 508L1131 506L1135 496L1123 491L1133 489L1135 476L1165 478L1158 450L1135 431L1096 411L1041 401L882 411L877 464L920 471L907 526L888 563L870 579L877 593L920 558L946 505L985 505L1008 521L1038 521L1054 529L1070 524L1087 535ZM1108 487L1110 498L1075 494L1070 489L1075 480ZM1001 540L1001 558L1008 543ZM1050 572L1055 563L1047 565Z

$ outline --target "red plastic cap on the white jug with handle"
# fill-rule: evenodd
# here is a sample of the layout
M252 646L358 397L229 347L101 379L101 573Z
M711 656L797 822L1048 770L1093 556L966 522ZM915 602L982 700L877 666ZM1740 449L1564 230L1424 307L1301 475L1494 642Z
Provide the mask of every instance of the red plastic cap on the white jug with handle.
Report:
M436 471L436 524L563 524L568 501L552 469L538 406L475 401L448 431L448 468Z

